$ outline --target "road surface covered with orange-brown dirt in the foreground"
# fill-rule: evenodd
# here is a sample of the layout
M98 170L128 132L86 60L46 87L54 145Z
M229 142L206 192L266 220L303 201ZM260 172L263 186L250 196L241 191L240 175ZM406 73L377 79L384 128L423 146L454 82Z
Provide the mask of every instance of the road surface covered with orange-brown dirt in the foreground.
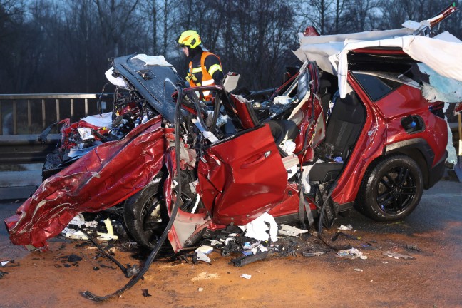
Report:
M451 202L462 200L460 183L442 183L453 185ZM230 263L236 255L224 257L219 250L209 255L211 264L166 256L144 280L103 303L81 293L111 294L128 279L93 245L56 240L48 252L27 252L1 236L0 260L14 263L0 267L0 307L462 307L462 210L436 215L451 202L438 188L431 192L404 222L378 223L351 212L324 233L332 239L339 225L351 224L353 230L342 232L360 239L340 236L334 244L350 244L366 259L338 257L337 250L307 235L280 240L294 241L296 254L274 254L243 267ZM321 250L328 252L303 255ZM124 265L143 265L146 257L137 247L116 245L111 251Z

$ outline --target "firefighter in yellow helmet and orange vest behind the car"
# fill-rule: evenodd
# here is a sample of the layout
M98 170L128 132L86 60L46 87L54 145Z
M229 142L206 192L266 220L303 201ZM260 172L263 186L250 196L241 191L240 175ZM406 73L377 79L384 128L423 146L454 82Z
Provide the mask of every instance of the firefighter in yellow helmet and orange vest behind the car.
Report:
M202 47L199 34L194 30L184 31L178 36L178 45L190 59L186 81L191 87L212 86L222 83L224 74L220 58ZM210 91L203 91L203 98L212 98Z

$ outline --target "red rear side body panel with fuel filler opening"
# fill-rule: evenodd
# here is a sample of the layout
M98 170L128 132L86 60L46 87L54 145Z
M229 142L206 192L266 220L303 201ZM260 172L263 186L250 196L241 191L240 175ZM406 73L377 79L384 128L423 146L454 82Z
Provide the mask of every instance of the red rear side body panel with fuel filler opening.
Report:
M368 51L371 52L371 50ZM338 204L354 202L367 168L376 158L383 155L386 145L411 139L409 133L406 133L401 125L401 118L404 116L419 115L426 123L426 129L413 134L412 138L422 138L428 141L428 145L435 154L431 166L436 165L444 157L447 140L446 122L428 112L428 101L419 89L401 85L384 98L373 102L351 76L351 73L349 73L348 82L364 103L367 117L356 146L349 157L349 161L356 163L347 163L338 179L337 188L332 193L332 200Z

